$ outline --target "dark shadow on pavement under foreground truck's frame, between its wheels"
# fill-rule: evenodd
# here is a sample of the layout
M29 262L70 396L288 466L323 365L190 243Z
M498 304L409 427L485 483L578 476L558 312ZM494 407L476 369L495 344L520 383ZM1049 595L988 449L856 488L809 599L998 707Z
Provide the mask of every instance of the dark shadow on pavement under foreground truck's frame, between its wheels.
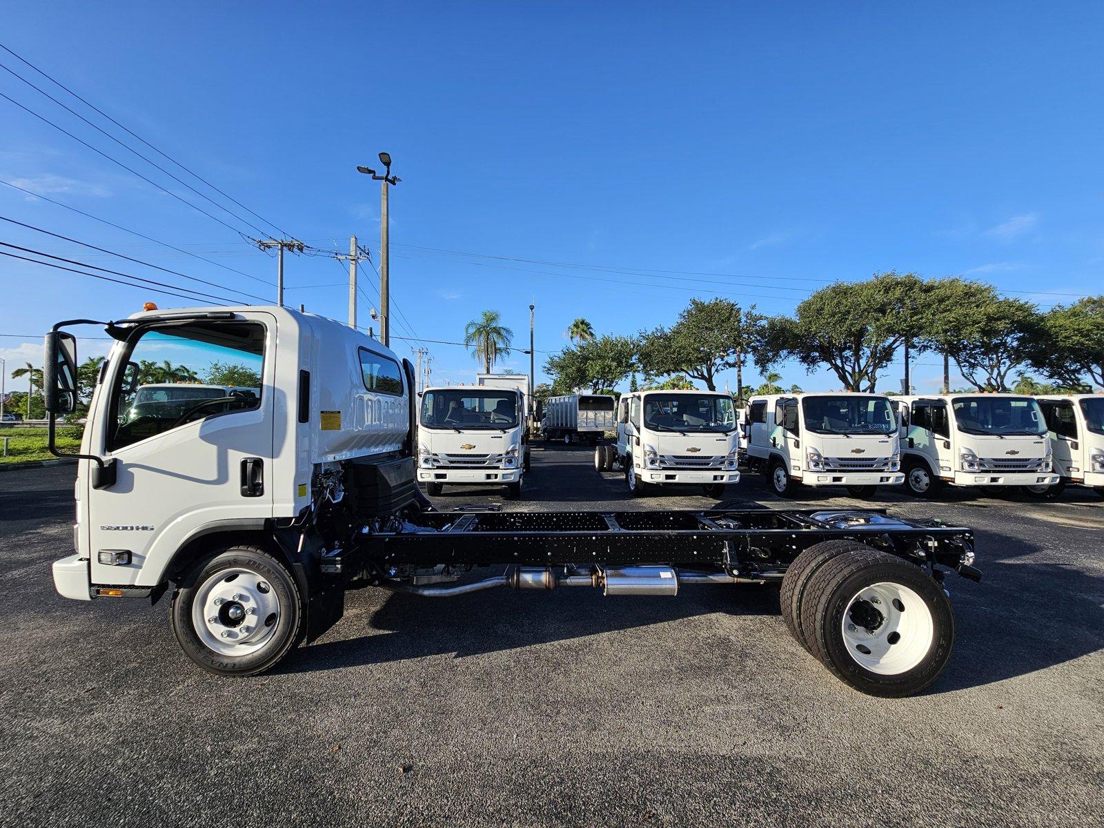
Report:
M277 672L312 672L454 654L463 658L714 613L778 616L778 591L750 584L732 590L687 586L676 597L606 597L599 590L585 587L524 593L498 588L450 598L395 593L386 597L370 620L362 622L375 631L300 648ZM347 617L341 624L350 620Z

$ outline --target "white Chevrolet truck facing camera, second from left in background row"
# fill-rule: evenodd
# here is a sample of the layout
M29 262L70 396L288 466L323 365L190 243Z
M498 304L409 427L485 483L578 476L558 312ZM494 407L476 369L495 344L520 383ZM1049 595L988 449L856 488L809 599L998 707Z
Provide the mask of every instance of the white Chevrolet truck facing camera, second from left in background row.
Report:
M629 491L697 484L720 499L736 470L740 429L732 397L715 391L637 391L617 406L616 461Z

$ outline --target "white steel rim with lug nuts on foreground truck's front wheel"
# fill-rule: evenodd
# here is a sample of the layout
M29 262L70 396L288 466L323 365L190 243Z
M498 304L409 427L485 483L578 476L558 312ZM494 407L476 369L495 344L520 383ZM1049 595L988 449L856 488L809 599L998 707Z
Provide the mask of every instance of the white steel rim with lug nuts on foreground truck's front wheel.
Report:
M221 656L241 658L273 639L280 602L267 578L234 566L208 576L192 601L192 626L199 639Z

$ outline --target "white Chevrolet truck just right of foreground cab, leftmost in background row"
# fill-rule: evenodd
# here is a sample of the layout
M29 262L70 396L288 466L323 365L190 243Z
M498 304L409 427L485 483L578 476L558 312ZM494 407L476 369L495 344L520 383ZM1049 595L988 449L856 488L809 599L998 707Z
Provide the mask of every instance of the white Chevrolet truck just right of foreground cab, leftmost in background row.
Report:
M509 497L521 497L529 470L526 397L514 388L426 389L417 450L417 479L431 495L447 484L506 486Z

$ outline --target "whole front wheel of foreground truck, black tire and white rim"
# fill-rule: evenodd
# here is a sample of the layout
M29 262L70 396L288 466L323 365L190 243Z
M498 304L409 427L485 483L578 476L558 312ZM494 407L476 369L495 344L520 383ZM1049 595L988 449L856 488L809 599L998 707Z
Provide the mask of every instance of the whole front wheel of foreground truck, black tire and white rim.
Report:
M291 573L259 546L200 561L172 597L172 631L192 661L219 676L255 676L295 647L302 599Z

